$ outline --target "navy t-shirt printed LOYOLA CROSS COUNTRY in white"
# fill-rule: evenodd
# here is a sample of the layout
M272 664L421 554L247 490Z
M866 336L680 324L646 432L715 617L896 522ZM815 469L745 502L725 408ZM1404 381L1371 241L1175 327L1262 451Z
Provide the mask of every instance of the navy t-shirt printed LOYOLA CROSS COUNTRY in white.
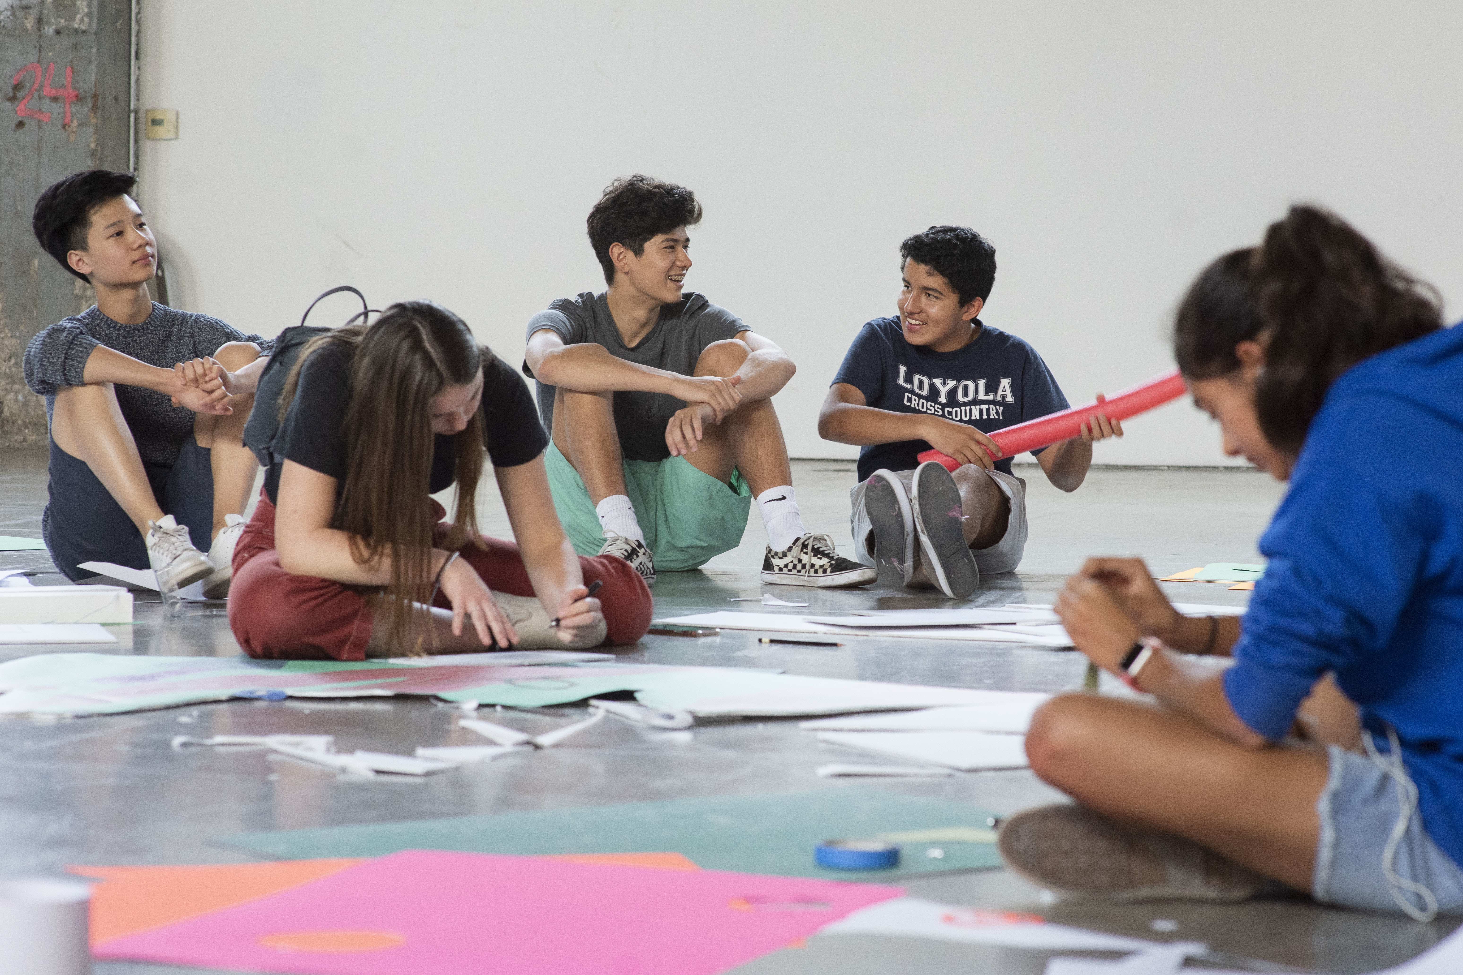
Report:
M974 342L954 352L932 352L904 341L898 319L865 323L843 357L834 383L863 393L865 403L895 414L930 414L995 433L1068 408L1046 363L1024 339L976 319ZM876 443L859 452L859 479L879 468L913 471L923 440ZM1033 450L1031 456L1040 450ZM996 460L1011 474L1011 458Z

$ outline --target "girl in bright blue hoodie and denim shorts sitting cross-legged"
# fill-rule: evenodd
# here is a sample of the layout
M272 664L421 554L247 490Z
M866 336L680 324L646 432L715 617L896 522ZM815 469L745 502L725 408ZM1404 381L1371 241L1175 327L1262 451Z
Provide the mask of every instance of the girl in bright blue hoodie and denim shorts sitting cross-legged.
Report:
M1225 453L1290 484L1270 564L1233 623L1178 615L1138 560L1068 580L1072 642L1156 702L1037 712L1031 767L1081 805L1011 819L1007 862L1075 898L1238 900L1273 879L1457 911L1463 329L1440 330L1429 289L1350 227L1295 208L1200 276L1175 351ZM1233 667L1182 656L1207 652Z

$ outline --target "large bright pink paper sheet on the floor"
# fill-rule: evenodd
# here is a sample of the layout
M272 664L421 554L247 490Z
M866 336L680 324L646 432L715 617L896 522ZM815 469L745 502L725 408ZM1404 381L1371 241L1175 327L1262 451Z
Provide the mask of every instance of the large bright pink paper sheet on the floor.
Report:
M901 893L411 849L114 938L95 957L301 975L712 975Z

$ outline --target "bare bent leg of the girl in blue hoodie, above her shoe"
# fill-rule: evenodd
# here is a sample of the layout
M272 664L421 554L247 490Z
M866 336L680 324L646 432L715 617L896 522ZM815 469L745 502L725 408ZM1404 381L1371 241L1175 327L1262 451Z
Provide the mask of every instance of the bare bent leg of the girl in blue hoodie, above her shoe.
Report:
M1091 810L1311 889L1327 776L1318 748L1242 748L1151 705L1067 694L1036 712L1026 750L1039 776Z

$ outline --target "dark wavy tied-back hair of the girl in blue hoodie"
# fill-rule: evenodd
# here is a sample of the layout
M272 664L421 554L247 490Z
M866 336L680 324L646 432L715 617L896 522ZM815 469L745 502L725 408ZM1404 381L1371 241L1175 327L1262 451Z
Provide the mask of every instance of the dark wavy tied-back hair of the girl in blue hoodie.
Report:
M1213 379L1239 368L1236 344L1264 342L1255 415L1265 439L1295 456L1342 373L1440 327L1432 285L1340 216L1292 206L1264 244L1204 269L1179 306L1173 352L1186 376Z

